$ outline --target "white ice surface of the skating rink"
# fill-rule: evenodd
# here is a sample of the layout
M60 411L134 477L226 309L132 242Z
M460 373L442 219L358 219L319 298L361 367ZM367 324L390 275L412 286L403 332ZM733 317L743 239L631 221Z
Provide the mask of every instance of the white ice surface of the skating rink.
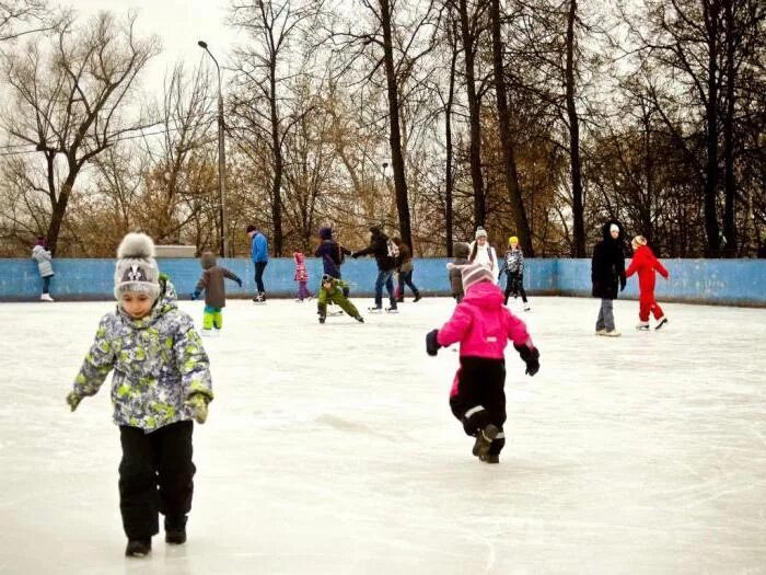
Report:
M188 542L125 559L108 384L69 413L114 303L0 303L0 572L19 574L766 573L766 310L666 304L593 334L594 299L532 298L530 378L509 348L508 442L471 455L448 405L453 302L316 321L230 300L206 340ZM199 325L204 303L183 301ZM519 308L514 303L514 310Z

